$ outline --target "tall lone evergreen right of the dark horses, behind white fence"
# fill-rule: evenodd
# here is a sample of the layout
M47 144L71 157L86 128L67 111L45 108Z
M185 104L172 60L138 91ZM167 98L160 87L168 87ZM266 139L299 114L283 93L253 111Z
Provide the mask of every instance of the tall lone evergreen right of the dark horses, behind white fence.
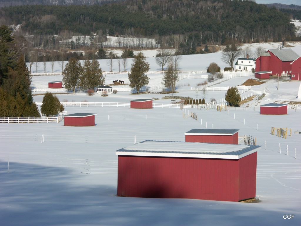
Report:
M131 72L128 73L130 87L135 88L137 93L142 86L146 86L150 80L146 72L150 70L150 65L146 62L144 55L139 52L135 56L134 63L131 67Z

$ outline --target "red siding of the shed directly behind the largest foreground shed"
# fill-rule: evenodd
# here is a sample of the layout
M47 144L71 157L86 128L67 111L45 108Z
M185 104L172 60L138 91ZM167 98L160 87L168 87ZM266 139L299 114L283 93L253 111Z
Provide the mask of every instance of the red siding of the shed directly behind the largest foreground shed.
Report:
M185 135L185 142L238 144L238 132L232 136L225 135Z

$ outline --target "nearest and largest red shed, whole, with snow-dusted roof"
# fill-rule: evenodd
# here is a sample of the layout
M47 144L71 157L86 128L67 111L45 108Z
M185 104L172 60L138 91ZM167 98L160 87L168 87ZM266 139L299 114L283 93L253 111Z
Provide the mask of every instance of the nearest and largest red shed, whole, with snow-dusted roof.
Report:
M144 141L117 150L117 196L233 202L253 198L259 148Z

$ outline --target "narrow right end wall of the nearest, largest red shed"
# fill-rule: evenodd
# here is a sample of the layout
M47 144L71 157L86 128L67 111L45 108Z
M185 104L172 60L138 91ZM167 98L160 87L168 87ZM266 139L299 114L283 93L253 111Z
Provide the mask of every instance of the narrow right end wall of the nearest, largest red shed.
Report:
M239 200L256 196L257 152L245 156L239 162Z

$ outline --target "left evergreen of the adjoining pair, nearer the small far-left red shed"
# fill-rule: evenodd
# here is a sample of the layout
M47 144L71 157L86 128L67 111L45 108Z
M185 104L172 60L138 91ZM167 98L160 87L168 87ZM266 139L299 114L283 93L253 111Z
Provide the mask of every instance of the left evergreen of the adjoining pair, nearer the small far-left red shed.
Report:
M63 82L66 89L72 89L72 92L75 93L75 88L79 84L81 74L82 65L76 58L71 58L63 71Z

